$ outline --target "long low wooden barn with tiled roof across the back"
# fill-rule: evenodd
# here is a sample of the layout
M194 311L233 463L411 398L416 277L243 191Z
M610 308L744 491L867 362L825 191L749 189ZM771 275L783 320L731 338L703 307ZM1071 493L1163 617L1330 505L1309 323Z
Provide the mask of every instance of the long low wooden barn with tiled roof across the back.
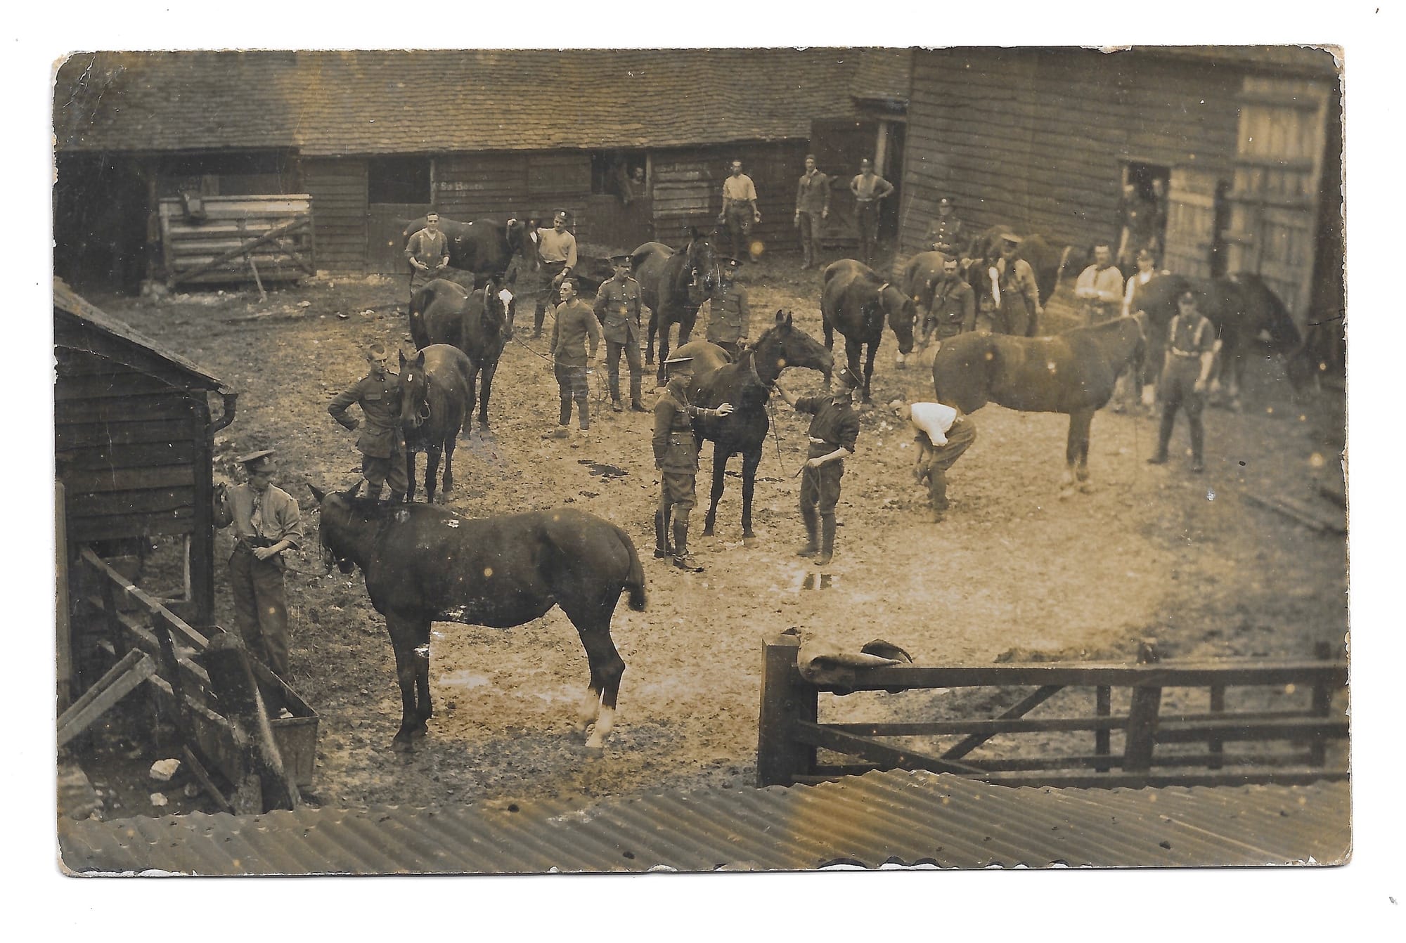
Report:
M308 194L329 273L404 271L404 222L430 207L564 208L585 243L678 242L714 225L733 159L756 238L790 252L811 149L844 243L859 157L898 183L908 69L891 49L84 53L56 79L55 266L128 290L166 277L159 207L191 195Z

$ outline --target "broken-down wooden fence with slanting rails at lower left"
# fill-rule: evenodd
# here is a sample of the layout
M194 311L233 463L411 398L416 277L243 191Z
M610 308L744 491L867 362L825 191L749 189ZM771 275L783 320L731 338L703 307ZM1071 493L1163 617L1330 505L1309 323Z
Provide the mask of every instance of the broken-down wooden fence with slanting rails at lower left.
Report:
M77 559L82 579L72 585L87 590L75 601L100 623L105 635L100 646L115 663L59 715L58 745L76 739L146 683L176 724L195 779L224 811L297 805L298 787L312 783L318 714L219 628L205 630L209 635L193 628L91 548ZM209 770L233 786L231 795Z

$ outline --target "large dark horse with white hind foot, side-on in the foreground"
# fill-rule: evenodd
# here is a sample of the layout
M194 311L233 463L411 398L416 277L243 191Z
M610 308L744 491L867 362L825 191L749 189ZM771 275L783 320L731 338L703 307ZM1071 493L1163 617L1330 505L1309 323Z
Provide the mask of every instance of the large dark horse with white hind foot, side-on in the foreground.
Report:
M576 732L595 724L588 749L600 749L614 724L624 662L610 639L623 590L644 610L644 568L630 537L571 507L467 519L430 505L381 505L312 488L321 506L318 538L343 573L360 566L366 592L395 651L401 729L392 746L409 750L427 731L430 623L510 628L560 606L581 635L591 682Z

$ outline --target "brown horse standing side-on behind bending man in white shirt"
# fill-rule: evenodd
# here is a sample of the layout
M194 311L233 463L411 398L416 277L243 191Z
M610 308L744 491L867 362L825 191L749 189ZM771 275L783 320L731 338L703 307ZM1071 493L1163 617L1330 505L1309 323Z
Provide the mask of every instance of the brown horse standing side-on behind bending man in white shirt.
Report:
M1088 490L1088 429L1114 395L1118 375L1147 350L1143 318L1116 318L1053 337L969 333L932 358L938 402L976 412L987 402L1038 413L1069 413L1062 497L1074 481Z

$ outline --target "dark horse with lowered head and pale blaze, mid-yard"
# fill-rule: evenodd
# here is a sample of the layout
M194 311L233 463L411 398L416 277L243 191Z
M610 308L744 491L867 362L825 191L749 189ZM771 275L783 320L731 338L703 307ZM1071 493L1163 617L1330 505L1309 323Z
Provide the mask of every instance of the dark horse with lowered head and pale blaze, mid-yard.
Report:
M918 308L912 298L853 259L841 259L825 266L824 288L820 294L820 315L825 327L825 350L835 344L834 332L845 336L845 360L849 371L865 378L863 401L869 399L869 378L875 372L875 354L883 342L884 315L898 339L898 365L912 353L912 327ZM859 371L860 349L868 344L863 374Z

